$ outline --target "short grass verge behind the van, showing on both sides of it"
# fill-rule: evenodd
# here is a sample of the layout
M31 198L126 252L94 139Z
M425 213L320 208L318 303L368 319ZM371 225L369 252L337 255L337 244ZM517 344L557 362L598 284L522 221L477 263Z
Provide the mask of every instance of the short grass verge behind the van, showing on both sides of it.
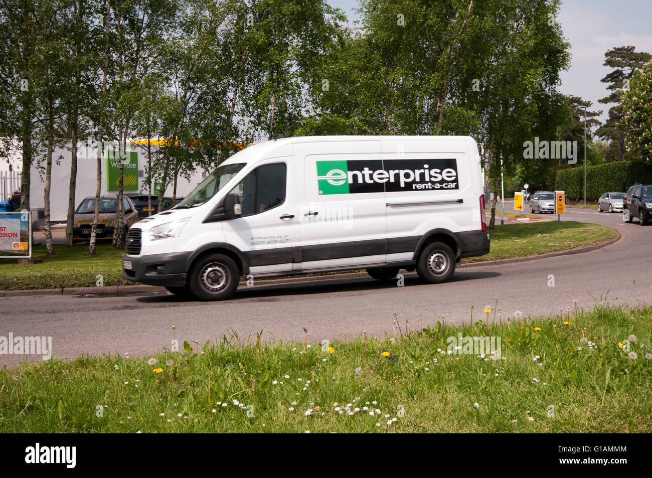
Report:
M541 222L539 224L505 224L490 230L491 252L464 262L505 259L544 252L554 252L594 244L615 237L607 226L583 222ZM15 259L0 260L0 289L47 289L95 286L96 276L102 275L104 286L134 284L123 277L121 258L124 250L110 244L99 244L94 257L88 255L88 245L70 248L55 246L55 256L48 257L45 246L35 246L33 257L43 262L18 265Z

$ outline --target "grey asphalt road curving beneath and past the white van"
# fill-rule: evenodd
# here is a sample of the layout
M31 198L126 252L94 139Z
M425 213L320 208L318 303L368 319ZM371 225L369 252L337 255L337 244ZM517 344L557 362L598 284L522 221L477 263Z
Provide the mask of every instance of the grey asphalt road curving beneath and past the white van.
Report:
M258 331L263 340L303 341L303 327L310 342L321 342L392 333L394 312L402 329L409 321L409 330L441 316L446 323L468 322L471 305L478 320L496 299L503 319L516 310L524 316L559 314L561 308L574 308L574 297L580 307L595 306L600 297L615 304L652 303L652 226L640 226L636 219L624 224L620 214L589 209L567 209L562 220L612 226L622 239L581 254L462 267L451 282L437 285L424 284L415 274L406 275L404 287L372 278L324 280L243 288L235 299L220 303L182 301L167 293L3 297L0 336L52 336L54 355L68 359L80 353L136 356L170 348L173 325L181 342L203 344L231 333L255 340ZM550 275L554 287L548 286ZM0 365L25 359L38 357L0 355Z

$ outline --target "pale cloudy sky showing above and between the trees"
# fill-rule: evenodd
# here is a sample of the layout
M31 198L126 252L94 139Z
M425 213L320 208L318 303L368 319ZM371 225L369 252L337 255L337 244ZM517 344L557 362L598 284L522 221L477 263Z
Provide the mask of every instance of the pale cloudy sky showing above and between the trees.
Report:
M327 0L342 8L349 21L357 18L357 0ZM601 104L609 91L600 82L610 68L604 67L604 52L614 46L633 45L637 52L652 53L652 0L566 0L557 22L571 44L571 67L561 72L559 91L593 102L589 110L603 110L605 121L612 105Z

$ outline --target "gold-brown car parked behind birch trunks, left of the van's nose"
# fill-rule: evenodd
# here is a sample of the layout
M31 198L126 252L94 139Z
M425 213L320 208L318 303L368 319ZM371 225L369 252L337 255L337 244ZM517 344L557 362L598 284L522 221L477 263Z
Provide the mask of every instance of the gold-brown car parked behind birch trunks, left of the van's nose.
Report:
M128 229L138 222L138 212L134 203L127 196L123 196L123 205L125 209L125 237ZM99 218L96 230L96 239L110 240L113 239L113 229L115 228L115 216L117 209L117 196L101 196L99 203ZM91 224L93 224L93 214L95 212L95 196L85 198L75 211L75 226L72 229L72 239L88 240L91 239Z

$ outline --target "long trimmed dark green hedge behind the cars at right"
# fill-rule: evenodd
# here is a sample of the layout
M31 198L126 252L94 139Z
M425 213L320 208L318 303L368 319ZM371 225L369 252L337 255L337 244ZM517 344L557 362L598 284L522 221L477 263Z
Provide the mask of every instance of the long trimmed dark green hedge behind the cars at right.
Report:
M652 184L650 162L619 161L587 166L586 199L596 200L605 192L625 192L636 183ZM557 171L555 189L565 191L571 200L584 199L584 166Z

